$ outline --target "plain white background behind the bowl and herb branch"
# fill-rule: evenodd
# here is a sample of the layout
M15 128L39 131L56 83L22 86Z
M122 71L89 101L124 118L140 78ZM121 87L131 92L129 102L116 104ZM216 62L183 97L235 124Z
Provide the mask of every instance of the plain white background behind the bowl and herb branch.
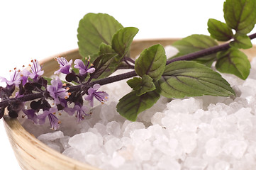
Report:
M224 21L223 1L0 1L0 77L9 77L10 69L27 66L32 59L77 48L77 26L86 13L108 13L124 27L139 28L135 39L184 38L194 33L208 35L208 18ZM0 165L1 169L21 169L2 120Z

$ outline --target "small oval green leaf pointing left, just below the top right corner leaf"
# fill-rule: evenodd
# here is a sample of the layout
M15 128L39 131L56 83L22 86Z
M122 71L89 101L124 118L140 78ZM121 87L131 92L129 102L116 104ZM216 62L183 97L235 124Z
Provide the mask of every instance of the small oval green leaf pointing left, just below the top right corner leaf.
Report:
M233 32L226 23L216 19L209 19L207 25L208 32L211 34L212 38L219 41L228 41L233 38Z

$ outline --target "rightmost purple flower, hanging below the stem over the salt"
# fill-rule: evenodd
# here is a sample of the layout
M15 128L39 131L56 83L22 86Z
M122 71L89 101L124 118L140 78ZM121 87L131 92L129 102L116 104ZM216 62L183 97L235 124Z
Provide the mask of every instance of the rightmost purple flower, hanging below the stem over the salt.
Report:
M94 84L93 87L90 87L88 89L88 96L86 96L84 99L86 101L90 102L90 106L94 106L94 97L100 101L104 102L107 100L108 94L104 91L97 91L101 86L99 84Z

